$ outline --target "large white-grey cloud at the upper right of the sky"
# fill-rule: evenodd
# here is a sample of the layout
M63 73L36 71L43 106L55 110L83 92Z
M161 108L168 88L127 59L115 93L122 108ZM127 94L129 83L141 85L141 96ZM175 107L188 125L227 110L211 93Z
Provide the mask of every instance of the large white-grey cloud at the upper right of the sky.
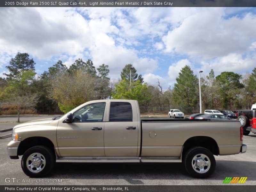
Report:
M225 56L246 53L256 39L256 16L247 13L243 18L224 19L224 8L204 8L170 30L162 38L165 52L187 54L190 57Z

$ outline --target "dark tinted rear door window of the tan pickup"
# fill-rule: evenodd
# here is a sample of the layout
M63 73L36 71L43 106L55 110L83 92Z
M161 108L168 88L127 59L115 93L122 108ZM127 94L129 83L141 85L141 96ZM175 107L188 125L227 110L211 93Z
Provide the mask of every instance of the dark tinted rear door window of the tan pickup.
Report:
M111 102L109 121L132 121L132 105L128 102Z

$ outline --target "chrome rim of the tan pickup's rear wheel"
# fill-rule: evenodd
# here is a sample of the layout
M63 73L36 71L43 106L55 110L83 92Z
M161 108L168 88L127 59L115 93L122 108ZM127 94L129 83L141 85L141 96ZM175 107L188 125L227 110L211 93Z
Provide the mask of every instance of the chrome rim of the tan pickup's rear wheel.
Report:
M192 167L198 173L206 173L211 167L211 161L207 155L197 154L192 159Z

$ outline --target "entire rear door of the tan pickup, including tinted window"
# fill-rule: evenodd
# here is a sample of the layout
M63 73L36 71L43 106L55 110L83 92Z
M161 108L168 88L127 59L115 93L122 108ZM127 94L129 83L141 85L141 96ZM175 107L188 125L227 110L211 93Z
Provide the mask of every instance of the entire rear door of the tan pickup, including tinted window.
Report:
M109 100L104 130L106 156L138 156L139 121L135 102ZM136 109L136 110L132 110Z

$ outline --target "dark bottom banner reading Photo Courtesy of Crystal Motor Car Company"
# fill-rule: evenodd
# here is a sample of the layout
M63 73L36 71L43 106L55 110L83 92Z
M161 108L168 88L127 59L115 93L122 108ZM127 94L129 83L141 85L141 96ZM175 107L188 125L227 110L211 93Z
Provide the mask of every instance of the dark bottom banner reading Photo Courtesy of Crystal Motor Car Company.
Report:
M254 192L255 186L248 186L248 185L222 185L222 186L92 186L92 185L83 185L83 186L64 186L64 185L55 185L55 186L0 186L1 192L106 192L106 191L114 191L114 192L198 192L198 191L207 191L207 192Z

